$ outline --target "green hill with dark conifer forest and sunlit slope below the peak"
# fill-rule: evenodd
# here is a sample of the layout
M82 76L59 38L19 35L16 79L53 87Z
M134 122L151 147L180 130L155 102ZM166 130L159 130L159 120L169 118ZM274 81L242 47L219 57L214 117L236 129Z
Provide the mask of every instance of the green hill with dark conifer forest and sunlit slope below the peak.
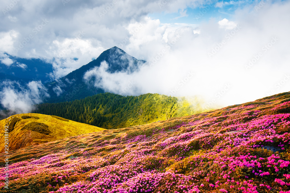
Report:
M202 111L204 109L197 98L189 102L184 97L150 93L127 97L102 93L71 102L39 104L34 112L116 129L193 115Z

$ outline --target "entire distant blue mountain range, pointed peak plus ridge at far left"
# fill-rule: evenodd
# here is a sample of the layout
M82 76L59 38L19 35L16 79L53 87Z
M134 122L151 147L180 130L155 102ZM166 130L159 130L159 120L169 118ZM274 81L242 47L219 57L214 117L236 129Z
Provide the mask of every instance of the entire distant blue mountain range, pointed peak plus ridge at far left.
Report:
M45 102L64 102L86 98L105 90L94 85L97 77L90 77L84 80L84 75L89 70L98 68L102 62L106 62L108 73L126 72L128 74L138 71L145 60L137 60L124 50L112 47L105 50L98 58L90 63L81 66L66 76L51 81L50 73L53 73L53 66L39 58L18 58L7 53L0 53L0 80L19 82L19 88L26 88L31 81L41 81L48 89L49 98Z

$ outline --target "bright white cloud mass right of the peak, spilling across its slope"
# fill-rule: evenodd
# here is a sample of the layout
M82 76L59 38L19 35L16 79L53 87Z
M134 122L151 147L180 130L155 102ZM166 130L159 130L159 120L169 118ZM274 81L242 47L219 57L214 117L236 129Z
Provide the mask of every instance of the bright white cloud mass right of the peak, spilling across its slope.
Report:
M142 28L133 34L123 49L136 58L146 59L151 65L131 76L121 73L113 76L95 69L98 76L104 74L97 86L106 85L109 91L118 93L122 90L119 88L128 84L124 80L130 80L134 86L127 89L127 93L135 95L168 95L177 87L175 96L202 95L207 102L215 100L213 105L223 106L265 97L281 77L290 72L290 27L285 25L285 21L290 20L289 7L289 1L275 2L256 12L253 5L249 5L235 13L235 22L224 19L218 23L212 19L199 27L182 26L168 31L169 25L148 18L142 25L150 26L150 30ZM281 17L286 20L280 20ZM264 46L275 36L278 41L265 52ZM218 51L210 58L213 49ZM259 52L262 57L247 70L245 65ZM195 76L186 84L180 83L191 71ZM275 88L275 94L289 91L289 83ZM226 85L230 89L224 93Z

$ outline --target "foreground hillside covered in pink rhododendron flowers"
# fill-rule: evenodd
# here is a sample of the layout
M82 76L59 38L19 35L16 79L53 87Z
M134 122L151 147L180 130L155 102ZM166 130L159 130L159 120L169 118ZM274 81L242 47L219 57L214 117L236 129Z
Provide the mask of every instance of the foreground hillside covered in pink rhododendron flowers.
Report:
M290 193L289 127L290 93L282 93L68 137L10 152L1 192Z

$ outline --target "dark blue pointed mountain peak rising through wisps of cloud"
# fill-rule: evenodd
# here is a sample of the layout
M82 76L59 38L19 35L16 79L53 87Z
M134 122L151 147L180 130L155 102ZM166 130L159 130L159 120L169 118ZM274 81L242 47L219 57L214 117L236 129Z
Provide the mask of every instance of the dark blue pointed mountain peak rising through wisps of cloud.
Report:
M124 50L114 46L102 52L97 59L61 78L60 83L52 82L48 84L50 96L54 98L50 102L64 102L104 93L104 89L93 86L96 81L102 79L102 75L91 76L84 80L86 72L98 71L103 62L107 63L105 69L107 73L126 72L130 74L139 71L146 61L138 60L127 54ZM71 82L74 82L74 84L71 85ZM75 93L76 91L79 92Z

